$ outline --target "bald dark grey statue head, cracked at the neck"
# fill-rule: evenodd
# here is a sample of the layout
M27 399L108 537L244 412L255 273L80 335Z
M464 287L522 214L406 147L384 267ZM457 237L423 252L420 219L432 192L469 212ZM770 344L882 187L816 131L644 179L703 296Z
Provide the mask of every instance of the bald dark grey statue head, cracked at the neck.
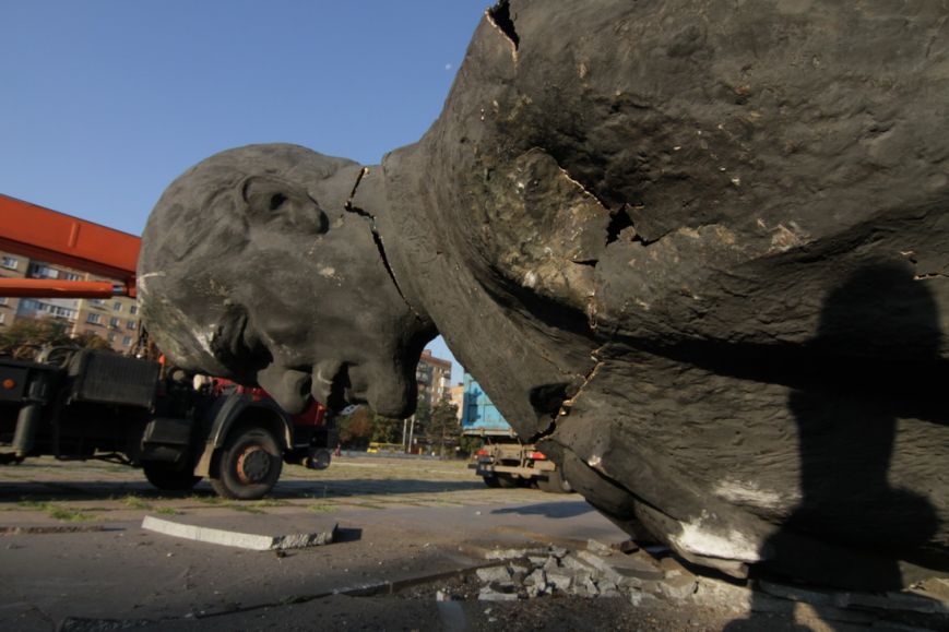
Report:
M142 318L177 365L258 383L286 410L309 394L415 405L431 337L348 200L363 167L288 144L216 154L175 180L142 236Z

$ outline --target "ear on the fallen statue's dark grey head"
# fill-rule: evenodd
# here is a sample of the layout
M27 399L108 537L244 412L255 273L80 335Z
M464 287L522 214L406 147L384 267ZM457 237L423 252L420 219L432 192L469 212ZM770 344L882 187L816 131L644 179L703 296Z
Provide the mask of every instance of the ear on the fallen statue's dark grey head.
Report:
M277 224L295 231L322 234L330 223L316 200L299 187L276 176L248 176L240 183L250 224Z

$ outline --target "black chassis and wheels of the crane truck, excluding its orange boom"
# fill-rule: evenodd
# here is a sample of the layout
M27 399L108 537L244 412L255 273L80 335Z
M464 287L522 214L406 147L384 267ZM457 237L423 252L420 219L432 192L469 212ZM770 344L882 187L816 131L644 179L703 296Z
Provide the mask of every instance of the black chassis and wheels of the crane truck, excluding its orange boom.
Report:
M260 390L195 387L192 375L107 350L0 357L0 462L102 458L142 467L163 490L207 477L225 498L271 491L283 462L324 468L325 408L292 417Z

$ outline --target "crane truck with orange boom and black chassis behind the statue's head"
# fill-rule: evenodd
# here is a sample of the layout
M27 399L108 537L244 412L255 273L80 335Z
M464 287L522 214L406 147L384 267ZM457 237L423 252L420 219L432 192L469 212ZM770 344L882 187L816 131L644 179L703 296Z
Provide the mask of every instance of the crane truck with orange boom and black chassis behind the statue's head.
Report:
M0 248L121 283L0 278L0 296L134 296L138 237L0 195ZM330 464L325 407L290 416L260 389L195 375L147 357L69 346L0 356L0 463L37 455L141 467L163 490L207 477L222 497L271 491L283 463Z

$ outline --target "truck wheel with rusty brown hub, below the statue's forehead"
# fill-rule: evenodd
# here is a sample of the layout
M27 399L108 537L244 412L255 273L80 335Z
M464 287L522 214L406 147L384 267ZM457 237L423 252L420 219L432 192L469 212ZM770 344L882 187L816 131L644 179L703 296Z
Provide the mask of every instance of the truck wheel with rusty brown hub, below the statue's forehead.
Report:
M280 479L283 457L273 433L259 426L232 430L217 461L211 486L222 498L257 500Z

